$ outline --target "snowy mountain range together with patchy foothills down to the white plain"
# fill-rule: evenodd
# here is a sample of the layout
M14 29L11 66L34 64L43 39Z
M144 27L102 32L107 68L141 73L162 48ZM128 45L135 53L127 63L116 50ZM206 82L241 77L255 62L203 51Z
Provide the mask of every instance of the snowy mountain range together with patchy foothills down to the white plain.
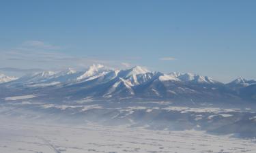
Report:
M4 106L0 114L18 118L201 129L255 137L255 130L252 135L251 129L255 127L256 114L247 111L252 111L251 105L256 102L256 84L242 78L223 84L193 73L92 65L79 71L69 68L25 75L0 84L0 91ZM233 105L244 110L234 109Z

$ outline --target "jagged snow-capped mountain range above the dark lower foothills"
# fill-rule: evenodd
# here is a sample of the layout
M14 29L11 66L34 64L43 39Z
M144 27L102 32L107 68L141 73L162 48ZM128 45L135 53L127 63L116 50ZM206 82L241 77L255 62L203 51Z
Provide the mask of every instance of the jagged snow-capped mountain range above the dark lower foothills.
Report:
M41 71L20 78L0 74L0 97L40 95L44 99L168 100L256 102L256 81L238 78L228 84L193 73L161 73L144 67L111 69L91 65L84 71Z

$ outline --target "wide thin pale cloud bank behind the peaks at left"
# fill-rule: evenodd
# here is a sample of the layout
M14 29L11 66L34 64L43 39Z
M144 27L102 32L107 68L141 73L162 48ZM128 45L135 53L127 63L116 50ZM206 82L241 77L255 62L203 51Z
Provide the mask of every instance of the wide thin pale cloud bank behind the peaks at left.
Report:
M58 50L57 50L58 49ZM108 67L124 68L130 67L132 61L129 57L118 59L102 56L70 55L63 53L63 47L45 43L44 41L25 41L16 48L0 50L1 67L12 67L18 69L59 69L74 67L83 69L91 64L98 63ZM66 50L67 52L67 50ZM5 69L6 70L6 69ZM14 69L12 69L14 70Z

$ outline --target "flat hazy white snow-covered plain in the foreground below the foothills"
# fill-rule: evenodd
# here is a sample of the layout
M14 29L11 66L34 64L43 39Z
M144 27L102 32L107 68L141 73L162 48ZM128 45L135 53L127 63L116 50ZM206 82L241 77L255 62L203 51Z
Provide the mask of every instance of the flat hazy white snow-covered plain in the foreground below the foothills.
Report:
M255 152L255 139L203 131L153 131L126 126L46 124L0 118L0 152Z

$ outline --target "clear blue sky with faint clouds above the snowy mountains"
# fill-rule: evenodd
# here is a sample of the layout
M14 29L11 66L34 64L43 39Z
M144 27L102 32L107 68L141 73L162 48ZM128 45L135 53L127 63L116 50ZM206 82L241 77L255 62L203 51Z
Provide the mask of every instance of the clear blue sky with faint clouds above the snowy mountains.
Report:
M0 72L94 63L256 80L256 1L0 1Z

